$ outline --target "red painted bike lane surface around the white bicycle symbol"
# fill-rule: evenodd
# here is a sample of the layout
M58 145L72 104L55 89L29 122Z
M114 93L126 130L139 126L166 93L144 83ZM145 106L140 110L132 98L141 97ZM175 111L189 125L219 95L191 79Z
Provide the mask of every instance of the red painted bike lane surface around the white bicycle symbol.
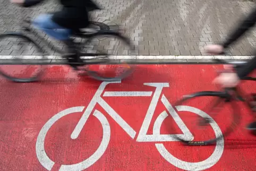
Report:
M222 67L138 65L130 78L109 84L59 65L48 66L38 83L1 78L0 169L255 170L256 136L244 129L251 115L241 102L242 123L218 146L184 147L163 126L175 122L168 118L161 126L162 112L169 115L177 98L218 90L211 81ZM246 93L255 86L241 85ZM207 101L193 107L203 110ZM231 116L223 113L216 120L220 130Z

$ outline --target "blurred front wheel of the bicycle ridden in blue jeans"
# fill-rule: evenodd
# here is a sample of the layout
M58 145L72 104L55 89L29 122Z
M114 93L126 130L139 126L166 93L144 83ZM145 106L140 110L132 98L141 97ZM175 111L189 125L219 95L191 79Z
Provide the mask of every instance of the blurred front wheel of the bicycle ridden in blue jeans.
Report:
M12 46L16 49L12 51L10 56L7 56L9 59L1 59L0 74L14 82L38 81L42 74L40 59L44 59L42 49L38 44L29 37L22 35L22 33L16 32L0 35L0 41L8 44L6 48ZM25 56L28 52L31 53L32 50L37 53L37 63L35 63L35 56Z

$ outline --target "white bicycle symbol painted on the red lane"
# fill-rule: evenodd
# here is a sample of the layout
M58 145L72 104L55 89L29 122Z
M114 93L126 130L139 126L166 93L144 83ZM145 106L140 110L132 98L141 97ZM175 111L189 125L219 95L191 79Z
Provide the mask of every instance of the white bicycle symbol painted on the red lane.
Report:
M83 112L82 117L80 118L78 124L76 125L74 131L71 134L71 139L78 138L81 130L83 129L84 124L86 124L87 119L92 114L95 116L99 122L101 123L103 127L103 139L100 143L100 146L98 149L93 153L92 156L90 156L88 159L85 159L77 164L72 165L61 165L59 170L84 170L91 165L95 164L96 161L103 156L104 152L106 151L108 147L108 143L110 140L110 125L107 121L107 118L99 112L99 110L95 110L95 112L92 113L93 108L95 108L95 105L98 103L105 111L106 113L114 119L114 121L122 127L122 129L131 136L132 139L135 138L136 132L132 129L132 127L127 124L124 119L118 115L115 110L110 107L107 102L101 97L104 89L106 88L107 84L110 83L121 83L120 82L102 82L96 91L95 95L91 99L89 105L84 110L84 106L77 106L77 107L71 107L63 110L62 112L59 112L58 114L54 115L52 118L49 119L49 121L42 127L42 129L39 132L37 142L36 142L36 153L37 158L41 165L45 167L47 170L51 170L54 166L54 161L52 161L46 154L44 142L47 132L49 131L50 127L53 126L55 122L58 121L58 119L72 114L76 112ZM155 123L153 124L153 133L148 135L148 129L149 125L152 119L153 114L155 113L155 109L158 103L158 100L160 98L161 92L163 88L169 87L169 83L144 83L146 86L156 87L155 92L152 91L105 91L103 93L103 97L141 97L141 96L152 96L152 100L150 102L147 114L144 118L144 121L142 123L141 129L139 131L139 134L137 136L136 141L138 142L157 142L155 144L157 150L159 151L160 155L163 156L170 164L181 168L185 170L203 170L210 168L214 166L218 160L220 159L223 151L224 151L224 139L220 139L216 143L216 148L214 152L211 154L209 158L206 160L197 162L197 163L190 163L186 161L182 161L176 157L174 157L171 153L167 151L163 143L159 142L166 142L166 141L177 141L173 138L172 134L160 134L160 127L163 123L164 119L168 116L166 110L164 110L160 115L157 117ZM153 95L152 95L153 93ZM187 140L193 140L193 135L187 129L186 125L182 121L182 119L178 116L178 114L175 112L175 109L170 105L169 101L163 94L161 96L161 102L164 104L166 109L168 110L168 113L174 118L174 121L177 123L177 125L182 130L183 134L178 134L178 136L184 136ZM202 112L202 110L190 106L175 106L178 112L184 111L184 112L192 112L194 114L198 114L202 117L210 117L208 114ZM221 134L221 130L216 122L211 123L211 127L214 130L215 134Z

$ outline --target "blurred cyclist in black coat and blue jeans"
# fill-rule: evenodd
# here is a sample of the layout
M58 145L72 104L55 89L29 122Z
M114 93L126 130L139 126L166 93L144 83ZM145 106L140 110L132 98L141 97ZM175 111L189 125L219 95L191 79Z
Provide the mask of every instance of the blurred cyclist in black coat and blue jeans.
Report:
M11 3L20 4L23 7L37 5L44 0L10 0ZM60 11L51 14L40 14L32 24L45 31L47 35L58 40L62 40L66 45L72 45L69 37L73 30L86 28L89 25L88 12L100 10L100 8L90 0L58 0L62 4ZM71 49L70 49L71 50ZM74 50L71 51L71 53ZM70 56L73 61L79 62L76 55Z

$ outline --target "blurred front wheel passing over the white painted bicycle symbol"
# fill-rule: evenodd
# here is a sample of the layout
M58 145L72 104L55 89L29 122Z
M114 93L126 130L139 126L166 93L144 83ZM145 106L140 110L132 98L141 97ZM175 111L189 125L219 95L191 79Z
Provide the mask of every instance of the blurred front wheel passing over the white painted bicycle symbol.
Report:
M214 144L232 133L240 123L240 113L236 102L225 92L202 91L193 93L178 100L175 103L175 108L178 118L174 118L174 120L180 119L184 124L180 129L175 129L175 126L172 126L172 131L176 133L174 138L187 145ZM195 116L192 112L198 115ZM218 123L222 134L215 132L214 125L216 123ZM177 134L177 132L181 132L181 134Z

